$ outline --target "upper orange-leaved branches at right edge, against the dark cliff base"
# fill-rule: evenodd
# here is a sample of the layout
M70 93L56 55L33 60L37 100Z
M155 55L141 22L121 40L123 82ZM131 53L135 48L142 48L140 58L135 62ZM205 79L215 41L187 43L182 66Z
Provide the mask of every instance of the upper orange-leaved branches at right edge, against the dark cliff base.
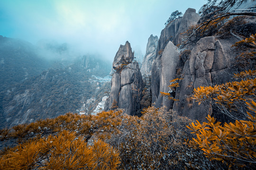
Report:
M214 109L232 119L243 120L249 115L246 102L256 101L256 70L235 74L241 81L228 82L213 87L194 89L193 99L199 104L210 104ZM246 111L247 110L247 111Z

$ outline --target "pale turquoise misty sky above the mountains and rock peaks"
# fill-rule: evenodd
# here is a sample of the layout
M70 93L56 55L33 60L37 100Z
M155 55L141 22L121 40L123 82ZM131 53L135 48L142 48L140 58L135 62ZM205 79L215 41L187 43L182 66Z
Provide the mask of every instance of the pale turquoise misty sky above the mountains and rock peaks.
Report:
M36 44L67 42L82 53L112 60L120 44L146 52L150 34L160 36L170 14L198 11L206 0L0 0L0 35Z

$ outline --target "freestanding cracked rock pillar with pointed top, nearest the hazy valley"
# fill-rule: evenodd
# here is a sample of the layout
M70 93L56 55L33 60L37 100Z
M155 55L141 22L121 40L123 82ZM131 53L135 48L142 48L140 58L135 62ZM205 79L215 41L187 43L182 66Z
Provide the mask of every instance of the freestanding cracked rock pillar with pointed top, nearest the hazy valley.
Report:
M134 53L131 51L129 42L126 42L125 45L120 45L113 62L113 68L120 67L120 60L123 54L126 54L125 59L129 64L113 74L111 92L105 103L104 110L110 110L112 102L116 100L120 109L124 109L129 115L135 115L140 110L143 79L138 63L132 61Z

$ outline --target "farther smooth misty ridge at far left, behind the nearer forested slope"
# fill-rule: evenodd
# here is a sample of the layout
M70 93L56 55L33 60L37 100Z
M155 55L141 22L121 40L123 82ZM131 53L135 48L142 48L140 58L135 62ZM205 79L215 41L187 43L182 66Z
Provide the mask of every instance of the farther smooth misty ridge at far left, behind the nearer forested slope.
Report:
M0 36L0 91L39 75L49 66L29 42Z

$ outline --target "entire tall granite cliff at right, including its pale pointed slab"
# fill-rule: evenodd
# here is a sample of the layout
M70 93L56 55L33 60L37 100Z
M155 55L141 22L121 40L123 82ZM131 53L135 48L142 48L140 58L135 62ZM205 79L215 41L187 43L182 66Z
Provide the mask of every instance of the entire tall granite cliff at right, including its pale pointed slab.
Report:
M181 33L195 25L199 19L195 10L189 8L182 18L174 20L162 30L152 66L152 105L166 106L167 110L173 109L180 115L201 122L206 120L208 114L213 114L220 121L227 121L226 118L219 116L216 110L202 104L198 105L191 97L193 89L199 86L234 81L232 75L238 72L238 51L232 45L240 40L232 34L226 37L213 34L201 38L185 51L178 50L175 45L182 41ZM254 24L254 18L247 18L247 23L238 27L239 30L246 30L247 33L243 36L248 36L255 32L255 28L247 29L247 25ZM169 81L180 76L183 77L179 80L180 86L174 91L170 90ZM160 92L170 93L176 101L168 100Z

